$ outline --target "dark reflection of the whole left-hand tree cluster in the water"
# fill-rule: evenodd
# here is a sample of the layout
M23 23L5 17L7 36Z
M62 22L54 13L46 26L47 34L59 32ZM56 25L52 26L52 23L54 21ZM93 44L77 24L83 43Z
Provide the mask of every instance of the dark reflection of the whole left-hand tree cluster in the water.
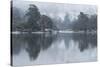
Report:
M56 39L51 33L44 34L21 34L12 36L13 54L18 54L24 48L30 57L35 60L41 50L48 49Z

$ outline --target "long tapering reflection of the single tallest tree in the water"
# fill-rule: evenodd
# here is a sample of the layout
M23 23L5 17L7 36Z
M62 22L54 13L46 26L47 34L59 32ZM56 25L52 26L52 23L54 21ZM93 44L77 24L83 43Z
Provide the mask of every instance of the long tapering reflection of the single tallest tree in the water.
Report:
M25 38L27 42L26 51L29 54L30 60L35 60L40 52L40 36L38 35L28 35Z

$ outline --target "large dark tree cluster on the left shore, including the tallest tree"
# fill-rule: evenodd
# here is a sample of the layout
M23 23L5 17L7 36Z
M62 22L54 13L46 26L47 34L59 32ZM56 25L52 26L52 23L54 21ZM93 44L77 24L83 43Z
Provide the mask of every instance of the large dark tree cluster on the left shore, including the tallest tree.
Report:
M20 10L16 7L12 7L12 31L51 31L51 29L57 29L53 25L52 19L49 16L41 15L37 6L30 5L27 13L24 15L24 19L20 18ZM21 21L23 20L23 22Z

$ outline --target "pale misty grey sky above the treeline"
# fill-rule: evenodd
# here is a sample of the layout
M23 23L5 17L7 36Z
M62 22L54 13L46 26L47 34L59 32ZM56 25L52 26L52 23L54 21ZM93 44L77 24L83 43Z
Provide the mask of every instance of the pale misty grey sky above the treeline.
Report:
M97 7L94 5L79 5L79 4L62 4L62 3L48 3L48 2L34 2L34 1L19 1L13 0L13 6L27 11L29 4L35 4L41 14L46 14L51 17L59 16L62 20L65 14L70 14L70 17L76 17L80 12L86 14L96 14Z

